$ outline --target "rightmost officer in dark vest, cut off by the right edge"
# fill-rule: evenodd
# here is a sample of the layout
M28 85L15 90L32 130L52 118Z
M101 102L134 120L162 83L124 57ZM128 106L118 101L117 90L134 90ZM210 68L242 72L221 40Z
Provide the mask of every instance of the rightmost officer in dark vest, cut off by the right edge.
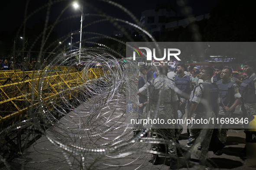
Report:
M253 61L246 61L243 63L243 70L246 73L246 78L240 85L239 92L242 96L241 109L243 111L243 118L248 118L249 123L256 115L256 74L254 73L255 63ZM244 124L245 132L248 124ZM246 156L246 148L241 152L242 156Z

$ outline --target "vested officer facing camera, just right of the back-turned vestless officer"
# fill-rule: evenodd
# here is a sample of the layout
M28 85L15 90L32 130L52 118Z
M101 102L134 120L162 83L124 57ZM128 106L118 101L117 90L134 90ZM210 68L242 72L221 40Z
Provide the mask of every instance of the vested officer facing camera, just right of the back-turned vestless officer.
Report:
M178 99L179 99L178 119L182 119L183 115L185 114L186 103L192 89L191 76L189 72L185 74L186 70L187 70L186 65L184 63L179 63L177 65L177 75L173 77L176 87L183 94L188 95L188 96L185 96L181 93L178 94Z

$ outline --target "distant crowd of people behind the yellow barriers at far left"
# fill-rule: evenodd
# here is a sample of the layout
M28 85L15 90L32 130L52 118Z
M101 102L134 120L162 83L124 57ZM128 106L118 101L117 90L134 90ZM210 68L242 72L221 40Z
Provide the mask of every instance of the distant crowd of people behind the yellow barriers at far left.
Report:
M11 62L9 63L7 59L0 58L0 70L17 70L21 71L35 71L38 69L44 69L48 66L47 60L45 59L42 66L36 66L36 58L32 58L32 62L29 63L29 57L24 57L22 63L17 63L17 57L11 57Z

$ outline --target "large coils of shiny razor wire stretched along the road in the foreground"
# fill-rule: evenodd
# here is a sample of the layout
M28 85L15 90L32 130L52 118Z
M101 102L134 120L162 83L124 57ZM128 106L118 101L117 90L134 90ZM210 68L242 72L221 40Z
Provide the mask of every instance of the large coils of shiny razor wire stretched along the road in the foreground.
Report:
M49 15L50 7L52 5L58 5L62 1L64 0L49 1L51 3L45 4L45 6L28 14L24 24L29 22L29 18L41 9L47 8ZM139 21L128 9L109 0L102 1L127 13L134 20L134 23L113 18L101 13L100 9L97 9L101 13L98 16L104 19L87 23L87 25L83 26L83 29L96 23L104 26L104 22L109 22L115 28L120 29L129 41L134 41L129 32L121 28L121 24L126 24L134 30L139 31L143 41L156 42L148 31L139 26ZM95 15L84 14L85 18L90 16ZM125 58L123 54L120 54L105 44L97 43L93 39L106 38L123 45L126 42L97 32L84 31L82 32L83 34L95 35L95 37L84 39L82 43L93 44L94 47L84 47L81 49L81 53L76 49L68 51L63 56L63 53L59 50L59 44L55 45L59 41L65 42L70 35L65 35L48 47L45 47L44 41L49 38L53 27L75 17L80 16L68 16L64 19L58 18L53 25L45 25L44 31L30 46L31 50L34 45L41 43L39 39L43 37L38 61L42 60L43 49L53 49L51 52L56 55L49 54L47 56L47 60L51 62L44 72L34 73L34 77L40 77L40 79L32 83L32 88L23 89L26 94L32 93L30 100L34 100L34 103L38 101L38 106L34 109L29 109L28 116L22 117L21 121L3 129L0 132L0 139L5 140L6 136L23 132L28 127L33 132L38 130L42 133L42 137L35 140L33 144L30 144L29 141L35 139L35 135L23 140L26 145L31 146L23 151L21 148L17 148L20 150L18 158L23 160L20 164L13 165L8 163L5 157L0 156L5 169L12 169L13 166L18 166L21 170L113 170L120 169L120 167L129 167L129 169L134 170L166 169L167 166L165 164L169 163L168 157L158 167L154 167L149 162L152 158L152 153L158 153L152 151L150 147L152 143L168 145L171 142L149 137L150 135L145 137L142 135L143 132L140 132L134 137L133 129L135 128L128 122L132 118L137 118L137 113L128 113L126 110L128 101L134 104L137 104L138 101L136 95L137 86L134 84L134 82L138 81L139 67L137 63L130 59L126 59L126 62L123 62L120 59L120 57ZM23 26L20 27L20 30ZM19 34L17 33L17 35ZM78 43L75 42L74 44ZM81 63L78 62L79 60ZM100 64L100 68L95 67L98 64ZM68 69L61 70L62 66L67 65ZM76 67L78 72L71 71L72 67ZM61 70L62 77L56 78L58 75L56 76L56 72L52 71L53 69ZM71 73L72 76L70 76ZM77 82L76 85L72 86L68 83L79 76L84 81ZM57 93L52 95L52 82L56 81L58 83L55 83L54 88L57 89ZM37 94L33 92L34 89L37 89ZM23 100L26 101L28 99L23 98ZM27 104L27 107L29 106ZM137 106L135 105L135 107ZM150 129L146 129L145 132L149 132L150 134ZM164 155L168 156L169 154L167 153ZM185 164L188 168L189 165L187 163Z

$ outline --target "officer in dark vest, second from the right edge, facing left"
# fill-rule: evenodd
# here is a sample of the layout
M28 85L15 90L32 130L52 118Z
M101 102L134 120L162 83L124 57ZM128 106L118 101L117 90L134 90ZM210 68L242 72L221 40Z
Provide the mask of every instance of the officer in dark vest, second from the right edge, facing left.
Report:
M223 101L220 104L220 111L218 115L219 120L221 118L230 119L231 113L235 111L235 108L241 102L239 87L235 82L231 82L231 79L230 79L231 74L232 74L232 69L224 68L220 74L221 80L217 82L220 99ZM219 131L218 138L222 143L226 142L227 130L228 130L227 124L226 123L221 124L219 122L219 124L217 124L216 127ZM222 155L222 149L218 150L215 154Z

